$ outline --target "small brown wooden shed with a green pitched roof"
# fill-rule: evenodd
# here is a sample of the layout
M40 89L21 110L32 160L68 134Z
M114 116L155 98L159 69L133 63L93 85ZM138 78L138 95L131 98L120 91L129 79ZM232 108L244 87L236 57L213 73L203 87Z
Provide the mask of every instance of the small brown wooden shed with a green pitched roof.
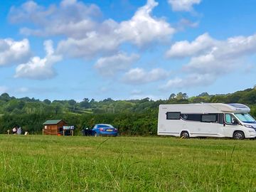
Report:
M62 119L57 120L48 120L43 123L43 134L48 135L58 135L63 134L63 126L66 126L67 123Z

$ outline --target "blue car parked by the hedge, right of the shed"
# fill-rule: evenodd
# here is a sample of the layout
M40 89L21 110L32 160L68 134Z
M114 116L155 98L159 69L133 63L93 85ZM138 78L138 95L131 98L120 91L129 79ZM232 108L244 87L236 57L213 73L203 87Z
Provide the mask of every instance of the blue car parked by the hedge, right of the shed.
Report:
M111 124L95 124L92 128L92 135L98 136L117 136L118 129L114 128Z

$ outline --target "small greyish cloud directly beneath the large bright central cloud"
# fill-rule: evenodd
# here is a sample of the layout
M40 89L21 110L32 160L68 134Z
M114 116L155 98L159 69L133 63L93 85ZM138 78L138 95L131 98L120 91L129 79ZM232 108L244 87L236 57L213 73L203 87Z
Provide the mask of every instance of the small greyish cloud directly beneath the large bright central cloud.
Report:
M114 76L119 71L127 70L132 63L139 59L139 55L127 55L125 53L118 53L110 57L100 58L95 63L96 70L104 76Z

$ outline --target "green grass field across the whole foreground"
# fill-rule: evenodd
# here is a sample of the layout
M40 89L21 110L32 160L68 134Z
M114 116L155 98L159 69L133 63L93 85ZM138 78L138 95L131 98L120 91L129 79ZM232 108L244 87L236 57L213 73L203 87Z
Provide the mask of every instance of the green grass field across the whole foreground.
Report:
M0 135L0 191L256 191L256 141Z

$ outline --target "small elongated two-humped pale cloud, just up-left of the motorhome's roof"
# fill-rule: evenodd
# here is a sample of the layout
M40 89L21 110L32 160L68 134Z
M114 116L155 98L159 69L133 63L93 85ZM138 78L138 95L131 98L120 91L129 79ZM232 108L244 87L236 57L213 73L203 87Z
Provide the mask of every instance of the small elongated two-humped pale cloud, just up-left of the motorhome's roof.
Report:
M161 68L156 68L147 72L142 68L134 68L124 74L123 81L128 84L144 84L147 82L155 82L164 80L169 76L169 73Z

